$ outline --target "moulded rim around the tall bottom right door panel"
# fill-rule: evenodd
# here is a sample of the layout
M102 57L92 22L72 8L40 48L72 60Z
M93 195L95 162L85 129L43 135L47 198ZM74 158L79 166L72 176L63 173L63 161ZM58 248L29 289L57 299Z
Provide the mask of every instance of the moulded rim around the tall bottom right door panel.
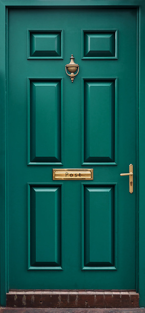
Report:
M114 266L84 266L84 186L114 186ZM117 270L117 240L118 240L118 223L117 223L117 183L81 183L81 270Z

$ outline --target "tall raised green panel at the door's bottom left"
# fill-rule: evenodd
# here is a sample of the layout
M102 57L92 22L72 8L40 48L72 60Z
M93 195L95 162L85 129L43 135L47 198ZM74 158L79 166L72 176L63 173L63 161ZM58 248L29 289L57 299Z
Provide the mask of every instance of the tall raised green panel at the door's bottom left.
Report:
M28 189L28 269L62 269L61 186Z

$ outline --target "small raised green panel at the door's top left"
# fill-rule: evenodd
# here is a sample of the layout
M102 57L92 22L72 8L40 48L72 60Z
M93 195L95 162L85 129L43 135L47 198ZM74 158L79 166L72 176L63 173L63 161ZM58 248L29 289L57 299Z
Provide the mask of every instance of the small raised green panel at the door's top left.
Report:
M63 58L63 30L28 30L28 58Z

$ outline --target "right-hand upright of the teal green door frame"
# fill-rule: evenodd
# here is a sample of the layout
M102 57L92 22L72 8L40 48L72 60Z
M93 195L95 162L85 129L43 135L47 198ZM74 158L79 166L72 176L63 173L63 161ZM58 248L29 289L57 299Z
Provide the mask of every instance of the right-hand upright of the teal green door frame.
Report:
M141 3L139 9L139 67L138 67L138 99L139 99L139 261L138 261L138 290L140 295L140 307L145 307L145 236L144 236L144 223L145 223L145 213L144 213L144 191L143 191L143 178L144 178L144 116L145 116L145 107L144 107L144 52L145 44L143 40L144 34L144 15L145 15L145 6L143 2Z

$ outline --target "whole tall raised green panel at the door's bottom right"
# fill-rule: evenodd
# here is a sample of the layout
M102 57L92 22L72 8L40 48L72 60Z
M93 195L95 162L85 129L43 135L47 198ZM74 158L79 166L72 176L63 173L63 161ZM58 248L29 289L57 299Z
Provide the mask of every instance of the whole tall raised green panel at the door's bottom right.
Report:
M116 269L115 185L83 185L82 269Z

